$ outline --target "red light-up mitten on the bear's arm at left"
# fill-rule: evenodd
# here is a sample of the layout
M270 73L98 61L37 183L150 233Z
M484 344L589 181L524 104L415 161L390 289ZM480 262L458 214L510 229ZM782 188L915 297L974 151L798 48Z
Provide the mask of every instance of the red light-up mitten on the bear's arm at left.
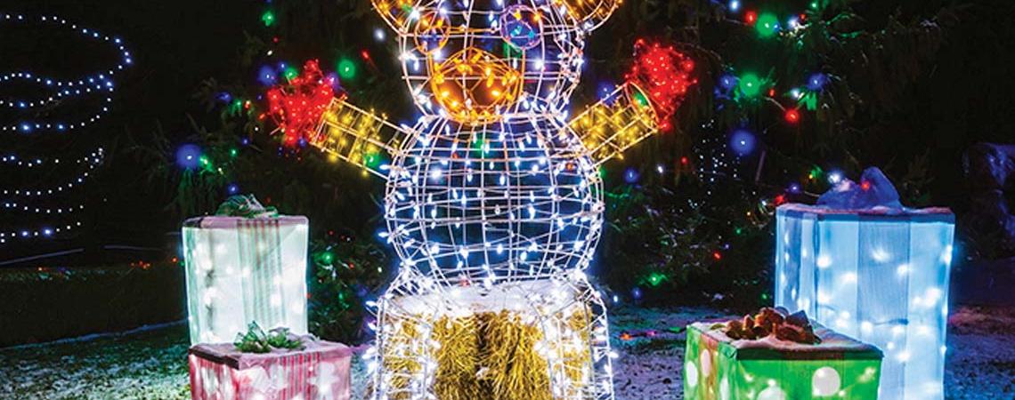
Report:
M284 135L286 146L308 138L335 97L333 77L325 77L317 60L308 61L299 76L268 90L268 112Z

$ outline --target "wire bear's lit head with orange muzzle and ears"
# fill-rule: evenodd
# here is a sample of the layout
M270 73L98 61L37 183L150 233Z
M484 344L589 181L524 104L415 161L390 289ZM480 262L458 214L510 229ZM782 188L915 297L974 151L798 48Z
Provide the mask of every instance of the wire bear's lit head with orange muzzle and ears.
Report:
M476 126L563 115L612 0L375 0L420 111Z

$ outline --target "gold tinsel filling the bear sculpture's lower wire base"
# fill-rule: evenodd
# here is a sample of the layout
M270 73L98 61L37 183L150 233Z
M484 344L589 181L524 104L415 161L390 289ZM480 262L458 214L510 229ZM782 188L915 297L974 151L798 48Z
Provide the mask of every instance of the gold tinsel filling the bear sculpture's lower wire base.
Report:
M546 324L572 333L548 341L543 340L544 325L537 318L525 319L507 310L438 316L431 322L429 340L435 343L431 346L422 338L424 322L416 322L428 318L392 319L386 322L394 329L387 336L383 363L388 371L408 375L421 371L420 355L429 355L436 362L432 390L441 400L550 400L550 366L542 351L560 358L553 374L570 381L560 395L574 398L591 379L591 315L582 306L569 310L569 315L551 318ZM409 384L408 377L394 376L389 381L389 398L410 398Z

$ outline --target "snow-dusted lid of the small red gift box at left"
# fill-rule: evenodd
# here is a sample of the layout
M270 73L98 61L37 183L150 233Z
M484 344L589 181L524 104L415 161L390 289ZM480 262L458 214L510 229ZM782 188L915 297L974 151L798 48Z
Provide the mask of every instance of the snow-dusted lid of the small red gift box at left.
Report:
M199 343L191 346L189 354L224 364L235 370L247 370L272 364L280 357L306 356L321 354L328 357L352 356L352 348L333 341L318 340L314 336L299 336L303 342L302 349L274 348L270 352L243 352L232 343Z

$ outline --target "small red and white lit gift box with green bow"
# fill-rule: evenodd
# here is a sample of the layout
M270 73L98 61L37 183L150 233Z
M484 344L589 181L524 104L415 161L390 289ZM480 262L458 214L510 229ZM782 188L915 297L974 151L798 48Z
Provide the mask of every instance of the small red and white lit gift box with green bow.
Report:
M232 343L190 348L194 400L349 399L352 349L303 336L302 349L241 352Z

